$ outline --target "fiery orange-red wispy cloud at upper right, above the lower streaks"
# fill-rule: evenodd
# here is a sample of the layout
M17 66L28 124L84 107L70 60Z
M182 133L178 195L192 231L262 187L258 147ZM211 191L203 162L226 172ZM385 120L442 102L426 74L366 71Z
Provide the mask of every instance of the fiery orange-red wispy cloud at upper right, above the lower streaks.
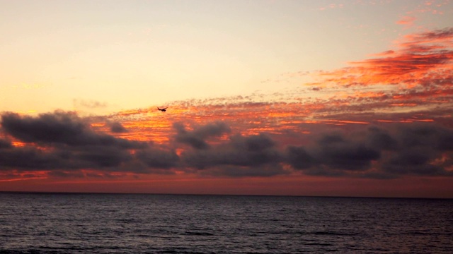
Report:
M452 86L453 80L453 28L406 35L398 44L399 49L386 51L380 58L352 62L352 66L336 71L323 72L322 83L352 87L357 85L423 85L426 80L432 88ZM318 84L318 83L317 83Z

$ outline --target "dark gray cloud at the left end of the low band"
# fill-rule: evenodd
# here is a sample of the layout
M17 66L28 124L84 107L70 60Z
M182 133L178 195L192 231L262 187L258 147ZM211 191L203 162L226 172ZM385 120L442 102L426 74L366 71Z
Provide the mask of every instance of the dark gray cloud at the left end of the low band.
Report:
M4 171L46 170L52 176L83 175L76 172L79 169L147 173L178 163L175 152L93 131L87 119L73 112L36 117L4 113L1 131L22 143L14 146L9 139L0 139L0 169Z

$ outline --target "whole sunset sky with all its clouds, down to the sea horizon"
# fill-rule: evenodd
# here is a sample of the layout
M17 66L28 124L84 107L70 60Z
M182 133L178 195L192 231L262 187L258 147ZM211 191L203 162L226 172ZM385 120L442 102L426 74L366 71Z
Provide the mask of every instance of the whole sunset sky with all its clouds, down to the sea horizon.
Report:
M453 198L453 1L0 6L0 191Z

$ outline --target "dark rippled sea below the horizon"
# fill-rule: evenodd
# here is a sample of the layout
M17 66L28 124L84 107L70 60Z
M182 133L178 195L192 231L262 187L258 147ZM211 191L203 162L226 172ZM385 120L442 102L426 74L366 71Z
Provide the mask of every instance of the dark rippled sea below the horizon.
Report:
M0 193L0 253L453 253L453 200Z

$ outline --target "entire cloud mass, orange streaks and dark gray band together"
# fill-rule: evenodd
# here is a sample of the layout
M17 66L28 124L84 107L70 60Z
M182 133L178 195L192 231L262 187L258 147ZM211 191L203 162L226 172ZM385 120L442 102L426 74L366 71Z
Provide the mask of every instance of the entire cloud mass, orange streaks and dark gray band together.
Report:
M407 35L375 58L319 72L316 89L269 101L258 94L193 99L173 102L174 114L151 107L98 118L6 112L0 170L67 177L452 176L452 38L452 28Z

